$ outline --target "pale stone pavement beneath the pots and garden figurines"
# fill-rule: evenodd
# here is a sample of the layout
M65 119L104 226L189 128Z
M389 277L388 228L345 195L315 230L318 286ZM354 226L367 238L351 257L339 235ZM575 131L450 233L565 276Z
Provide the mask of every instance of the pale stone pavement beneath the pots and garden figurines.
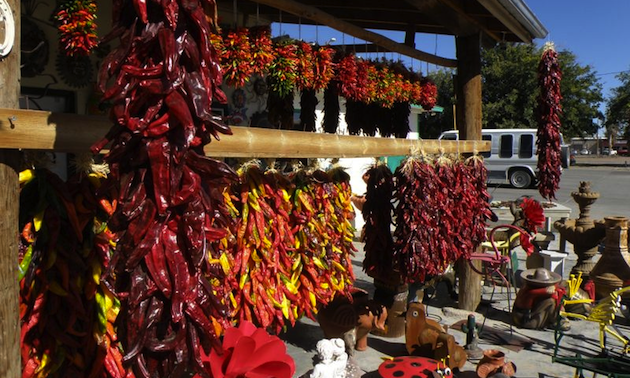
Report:
M557 238L556 238L557 240ZM549 249L553 250L557 245L553 242ZM570 245L569 245L570 247ZM373 293L374 287L372 279L367 277L361 269L363 261L363 245L357 243L359 253L353 259L353 266L357 280L355 285ZM519 266L525 267L525 253L518 252ZM565 275L576 262L576 256L569 252L565 260ZM489 302L492 287L484 286L482 304L476 313L478 323L486 315L486 323L482 329L479 346L482 349L499 349L506 354L509 361L514 362L517 367L515 377L522 378L568 378L573 377L575 368L558 362L552 362L554 351L554 331L543 330L534 331L519 328L510 328L509 306L507 304L507 289L498 288L492 303ZM512 292L512 299L514 292ZM489 307L487 306L489 305ZM457 309L457 303L450 299L446 293L444 284L437 286L435 295L428 302L427 316L443 325L449 326L449 333L461 344L465 344L466 335L458 329L451 327L458 322L464 321L469 312ZM630 322L626 322L623 317L615 320L618 330L625 335L630 335ZM595 356L600 352L599 348L599 328L598 324L588 321L571 321L571 330L566 332L561 341L559 355L572 357L579 352L583 355ZM316 356L315 345L322 339L323 332L316 322L309 319L299 321L295 327L289 329L281 338L285 341L288 353L294 358L296 363L296 377L308 373L313 367L313 358ZM614 351L620 349L621 344L612 338L608 340L609 345L614 346ZM355 352L354 360L364 372L363 377L377 378L376 372L383 358L406 355L405 338L386 338L369 335L368 349L363 352ZM630 357L626 357L630 363ZM624 360L624 361L625 361ZM461 372L456 376L459 378L477 377L475 367L478 361L469 360ZM628 372L630 374L630 371ZM585 371L585 376L590 377L592 373ZM601 375L599 375L601 376Z

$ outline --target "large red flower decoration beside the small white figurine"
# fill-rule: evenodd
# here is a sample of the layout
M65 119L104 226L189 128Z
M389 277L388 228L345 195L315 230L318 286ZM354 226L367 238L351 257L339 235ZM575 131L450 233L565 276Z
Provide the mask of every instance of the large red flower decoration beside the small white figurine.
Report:
M223 350L222 355L210 352L214 378L291 378L295 373L295 362L282 340L247 321L225 331Z

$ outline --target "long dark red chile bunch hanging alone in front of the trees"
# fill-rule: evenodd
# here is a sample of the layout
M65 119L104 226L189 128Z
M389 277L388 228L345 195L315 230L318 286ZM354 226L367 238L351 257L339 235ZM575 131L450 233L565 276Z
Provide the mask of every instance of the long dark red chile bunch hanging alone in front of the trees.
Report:
M538 64L538 191L543 198L556 198L562 173L560 149L560 114L562 72L553 43L546 43Z

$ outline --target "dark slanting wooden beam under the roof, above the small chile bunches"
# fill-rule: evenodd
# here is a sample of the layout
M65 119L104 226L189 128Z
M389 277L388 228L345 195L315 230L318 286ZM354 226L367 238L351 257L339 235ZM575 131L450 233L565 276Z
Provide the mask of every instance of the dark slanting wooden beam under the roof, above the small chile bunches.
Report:
M457 61L454 59L448 59L437 55L429 54L424 51L416 50L412 47L405 46L404 44L393 41L381 34L371 32L360 28L354 24L343 21L332 15L322 12L321 10L300 4L294 0L254 0L257 3L266 4L274 8L280 9L284 12L294 14L298 17L307 18L309 20L317 21L321 24L336 29L342 33L349 34L353 37L363 39L365 41L372 42L379 46L383 46L393 52L398 52L403 55L409 56L414 59L418 59L424 62L436 64L443 67L456 67Z

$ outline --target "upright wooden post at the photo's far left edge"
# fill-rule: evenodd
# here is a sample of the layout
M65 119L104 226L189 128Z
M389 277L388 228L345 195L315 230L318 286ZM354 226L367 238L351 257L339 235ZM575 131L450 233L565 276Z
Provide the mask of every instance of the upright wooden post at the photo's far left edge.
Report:
M20 95L20 1L8 0L15 20L15 41L0 58L0 106L17 108ZM20 308L17 253L19 167L17 150L0 150L0 377L21 376Z

